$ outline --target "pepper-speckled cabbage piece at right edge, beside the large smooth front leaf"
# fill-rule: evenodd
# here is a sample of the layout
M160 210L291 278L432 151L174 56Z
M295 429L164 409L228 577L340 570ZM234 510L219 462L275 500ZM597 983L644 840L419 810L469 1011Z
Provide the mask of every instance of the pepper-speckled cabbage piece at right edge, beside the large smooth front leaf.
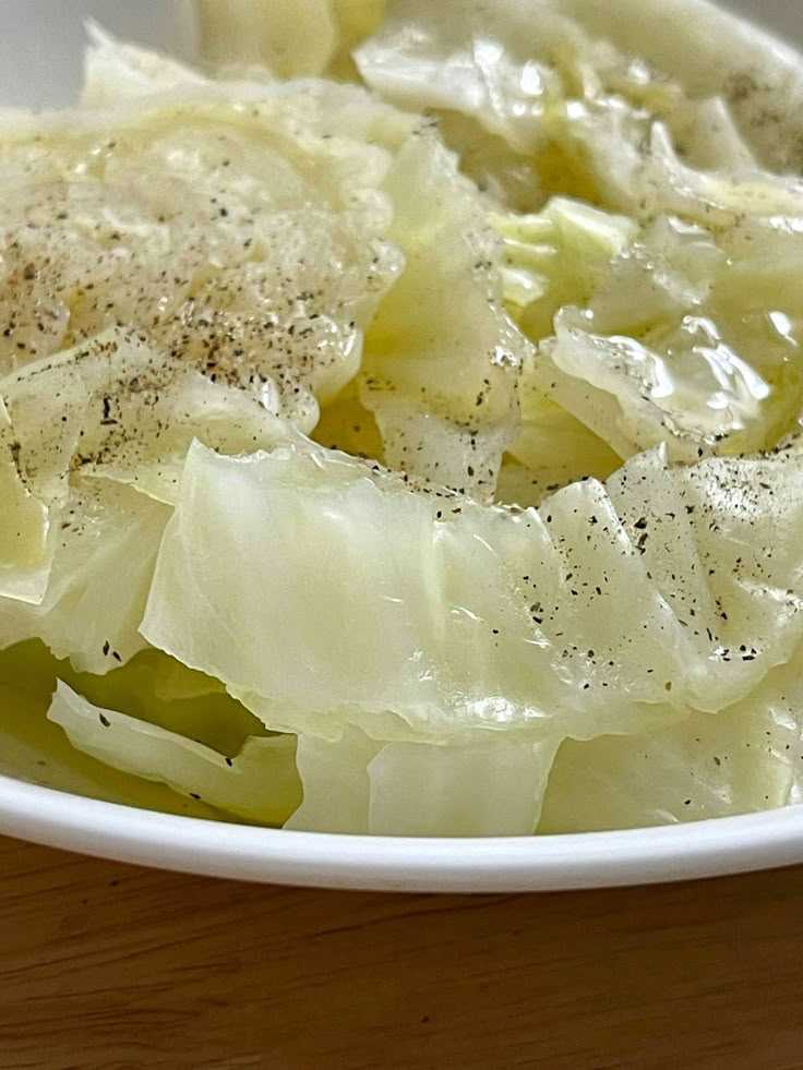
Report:
M803 467L793 454L666 467L608 481L611 502L698 657L691 705L719 710L793 658L803 634Z

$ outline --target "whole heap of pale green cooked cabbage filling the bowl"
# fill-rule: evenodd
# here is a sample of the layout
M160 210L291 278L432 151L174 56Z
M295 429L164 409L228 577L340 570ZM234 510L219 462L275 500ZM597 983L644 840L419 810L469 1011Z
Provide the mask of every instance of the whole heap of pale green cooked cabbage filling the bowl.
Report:
M91 27L77 109L0 113L0 772L384 835L801 801L800 60L303 9L201 2L215 77Z

